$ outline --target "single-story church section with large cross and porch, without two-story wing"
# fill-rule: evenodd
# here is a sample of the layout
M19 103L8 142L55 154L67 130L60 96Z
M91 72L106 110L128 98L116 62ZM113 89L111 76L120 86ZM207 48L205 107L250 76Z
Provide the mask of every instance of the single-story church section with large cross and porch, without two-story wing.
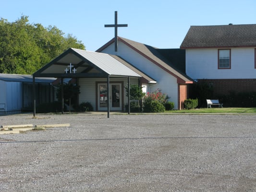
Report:
M193 80L185 74L185 51L158 49L117 36L96 52L70 48L33 74L36 77L73 78L80 85L79 104L89 102L95 111L124 111L130 103L125 87L138 84L145 93L161 90L183 109L188 85ZM109 99L108 99L109 98Z

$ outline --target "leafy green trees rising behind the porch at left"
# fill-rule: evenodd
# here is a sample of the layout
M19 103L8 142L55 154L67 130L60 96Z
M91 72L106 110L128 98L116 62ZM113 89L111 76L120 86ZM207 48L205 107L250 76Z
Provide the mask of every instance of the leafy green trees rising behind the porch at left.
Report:
M0 73L32 74L71 47L85 49L56 26L29 24L28 16L12 23L0 19Z

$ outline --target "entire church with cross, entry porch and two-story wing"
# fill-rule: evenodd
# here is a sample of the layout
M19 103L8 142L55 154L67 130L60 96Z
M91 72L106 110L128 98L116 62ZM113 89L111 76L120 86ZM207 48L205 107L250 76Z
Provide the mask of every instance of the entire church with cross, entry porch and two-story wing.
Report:
M191 26L181 49L159 49L117 36L91 52L70 48L35 72L36 77L74 78L79 104L95 111L124 111L130 103L124 87L138 84L145 93L161 90L183 109L189 87L205 81L215 94L256 91L256 24ZM236 89L237 88L237 89ZM109 99L108 99L109 98Z

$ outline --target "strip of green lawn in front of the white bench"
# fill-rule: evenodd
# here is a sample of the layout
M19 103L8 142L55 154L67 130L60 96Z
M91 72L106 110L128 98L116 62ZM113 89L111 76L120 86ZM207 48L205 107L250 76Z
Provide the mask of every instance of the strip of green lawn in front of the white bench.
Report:
M166 113L255 113L256 108L196 108L189 110L171 110Z

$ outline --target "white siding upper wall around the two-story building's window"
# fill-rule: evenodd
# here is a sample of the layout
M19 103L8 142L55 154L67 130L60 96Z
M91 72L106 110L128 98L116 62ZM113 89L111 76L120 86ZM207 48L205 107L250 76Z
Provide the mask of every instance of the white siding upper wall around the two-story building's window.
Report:
M254 48L232 48L231 69L218 69L218 49L187 49L186 74L192 79L256 78Z

